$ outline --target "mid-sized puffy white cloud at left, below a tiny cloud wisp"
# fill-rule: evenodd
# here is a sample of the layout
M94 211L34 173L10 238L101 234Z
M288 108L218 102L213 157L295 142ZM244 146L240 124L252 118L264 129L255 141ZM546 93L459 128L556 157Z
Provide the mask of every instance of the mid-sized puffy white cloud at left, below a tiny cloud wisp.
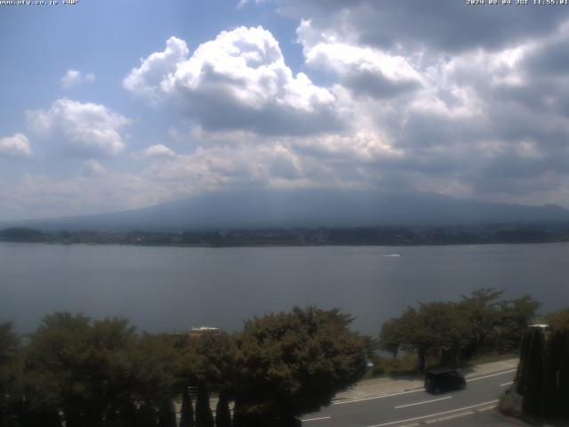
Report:
M126 117L104 105L68 99L54 101L49 109L27 111L28 124L39 138L60 144L78 157L113 157L125 143L119 129Z

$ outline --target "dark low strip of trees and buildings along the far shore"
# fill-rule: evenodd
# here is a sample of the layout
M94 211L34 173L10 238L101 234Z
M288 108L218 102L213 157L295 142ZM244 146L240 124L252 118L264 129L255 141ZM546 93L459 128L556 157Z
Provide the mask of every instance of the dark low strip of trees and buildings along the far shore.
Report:
M484 245L569 241L569 222L220 230L0 230L0 241L136 246Z

